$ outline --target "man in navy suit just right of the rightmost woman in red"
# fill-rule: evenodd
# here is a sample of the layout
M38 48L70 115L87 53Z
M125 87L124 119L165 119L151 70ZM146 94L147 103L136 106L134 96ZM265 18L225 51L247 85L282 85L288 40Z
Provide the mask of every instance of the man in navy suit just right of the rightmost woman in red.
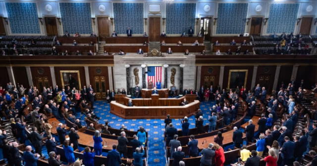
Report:
M281 149L283 157L283 164L287 166L293 166L295 143L289 140L288 136L284 137L285 143Z

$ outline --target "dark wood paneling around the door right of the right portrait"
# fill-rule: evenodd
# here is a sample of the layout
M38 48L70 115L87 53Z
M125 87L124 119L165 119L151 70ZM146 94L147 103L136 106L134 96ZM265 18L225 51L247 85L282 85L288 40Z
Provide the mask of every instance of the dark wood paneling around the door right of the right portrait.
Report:
M261 86L264 86L268 94L272 91L275 71L276 66L258 66L256 84L260 83Z

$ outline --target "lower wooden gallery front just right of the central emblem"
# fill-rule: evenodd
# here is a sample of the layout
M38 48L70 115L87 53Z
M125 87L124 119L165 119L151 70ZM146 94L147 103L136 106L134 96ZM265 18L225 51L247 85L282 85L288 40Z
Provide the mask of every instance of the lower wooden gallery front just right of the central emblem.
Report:
M166 52L168 48L171 48L171 50L173 52L185 52L186 49L188 49L188 51L191 52L203 52L203 50L205 49L205 45L181 45L181 46L177 46L176 44L174 46L171 45L161 45L160 46L160 51L162 53Z

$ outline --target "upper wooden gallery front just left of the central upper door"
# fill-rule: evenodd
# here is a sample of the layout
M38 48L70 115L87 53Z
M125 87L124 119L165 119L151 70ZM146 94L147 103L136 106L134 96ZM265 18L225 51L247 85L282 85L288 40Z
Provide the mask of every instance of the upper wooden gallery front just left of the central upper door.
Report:
M106 37L106 43L149 43L149 37Z

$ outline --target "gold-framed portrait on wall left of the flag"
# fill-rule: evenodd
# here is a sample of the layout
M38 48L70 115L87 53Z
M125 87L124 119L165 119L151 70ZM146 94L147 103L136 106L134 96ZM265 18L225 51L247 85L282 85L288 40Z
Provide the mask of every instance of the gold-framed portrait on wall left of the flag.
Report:
M76 89L80 89L80 73L79 70L61 70L60 72L60 80L62 87L70 86L70 89L76 87Z

